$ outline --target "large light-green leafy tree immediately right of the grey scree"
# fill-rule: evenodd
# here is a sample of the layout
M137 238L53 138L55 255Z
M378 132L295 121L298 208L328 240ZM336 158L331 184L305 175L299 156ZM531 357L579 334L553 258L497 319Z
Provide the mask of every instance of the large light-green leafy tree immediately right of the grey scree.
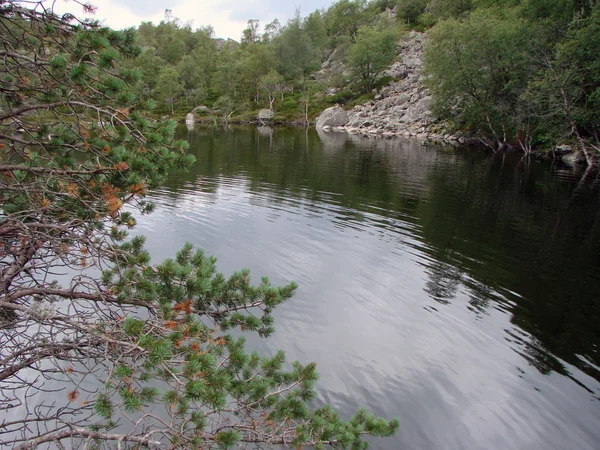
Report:
M477 10L464 21L440 22L424 67L435 112L500 141L527 86L526 39L527 27L512 10Z

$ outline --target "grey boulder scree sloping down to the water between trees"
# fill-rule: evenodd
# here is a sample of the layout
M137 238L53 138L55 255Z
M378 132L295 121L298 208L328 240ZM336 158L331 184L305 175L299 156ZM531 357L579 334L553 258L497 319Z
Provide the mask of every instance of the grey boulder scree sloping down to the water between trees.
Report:
M385 73L396 81L377 92L373 101L347 111L344 124L341 120L324 123L322 118L328 111L325 110L317 120L317 127L327 124L352 134L464 142L464 137L444 131L444 124L431 113L431 97L421 84L425 39L424 33L412 31L400 42L398 60ZM342 116L339 111L336 114Z

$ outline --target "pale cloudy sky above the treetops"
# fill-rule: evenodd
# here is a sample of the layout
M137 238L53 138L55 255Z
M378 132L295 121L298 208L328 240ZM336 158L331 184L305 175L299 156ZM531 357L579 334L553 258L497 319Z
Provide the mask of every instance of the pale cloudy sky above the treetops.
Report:
M165 9L171 9L173 17L182 23L192 22L192 28L212 25L215 37L240 40L248 19L258 19L265 25L273 19L285 24L293 17L296 8L307 16L318 8L328 8L335 0L90 0L97 7L95 18L106 25L122 29L137 26L141 22L158 24L163 20ZM71 12L82 17L81 7L73 2L59 0L57 12Z

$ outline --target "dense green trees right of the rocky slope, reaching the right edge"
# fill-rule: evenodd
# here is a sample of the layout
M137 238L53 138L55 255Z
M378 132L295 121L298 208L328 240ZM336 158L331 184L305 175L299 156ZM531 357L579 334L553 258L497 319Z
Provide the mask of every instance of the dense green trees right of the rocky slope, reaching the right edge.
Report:
M429 9L447 19L432 30L425 53L440 117L526 152L571 135L591 163L598 139L595 2L435 1Z

